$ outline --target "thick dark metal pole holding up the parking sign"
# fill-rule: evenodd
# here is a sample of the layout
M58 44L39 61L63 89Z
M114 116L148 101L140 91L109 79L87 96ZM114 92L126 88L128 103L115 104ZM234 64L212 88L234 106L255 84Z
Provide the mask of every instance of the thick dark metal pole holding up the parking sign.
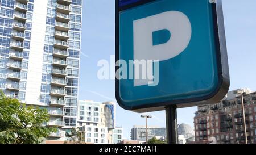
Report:
M177 106L166 107L167 144L178 144L177 133Z

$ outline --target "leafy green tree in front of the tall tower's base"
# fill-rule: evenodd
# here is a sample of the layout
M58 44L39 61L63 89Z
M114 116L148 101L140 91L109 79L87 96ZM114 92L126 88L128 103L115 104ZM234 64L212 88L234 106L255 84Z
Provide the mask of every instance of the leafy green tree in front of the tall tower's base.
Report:
M43 138L57 131L43 127L44 122L49 122L46 109L26 106L0 91L0 144L42 143Z

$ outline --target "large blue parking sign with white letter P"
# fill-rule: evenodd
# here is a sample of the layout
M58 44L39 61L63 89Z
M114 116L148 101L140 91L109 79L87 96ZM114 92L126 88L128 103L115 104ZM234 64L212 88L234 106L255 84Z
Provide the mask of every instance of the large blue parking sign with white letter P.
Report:
M133 78L115 81L117 102L126 110L216 103L228 92L221 0L116 1L115 47L117 74L126 72L120 60L133 62L126 73ZM153 78L136 78L146 73L142 62Z

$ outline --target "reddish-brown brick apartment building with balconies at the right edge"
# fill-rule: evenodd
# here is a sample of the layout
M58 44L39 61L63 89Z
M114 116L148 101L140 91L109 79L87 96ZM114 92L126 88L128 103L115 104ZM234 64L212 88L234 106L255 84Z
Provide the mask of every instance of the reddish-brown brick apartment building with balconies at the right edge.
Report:
M248 143L256 143L256 92L240 90L246 92L243 95L246 121L243 122L241 96L230 91L220 103L198 107L194 118L197 143L209 143L209 138L221 144L245 143L244 123Z

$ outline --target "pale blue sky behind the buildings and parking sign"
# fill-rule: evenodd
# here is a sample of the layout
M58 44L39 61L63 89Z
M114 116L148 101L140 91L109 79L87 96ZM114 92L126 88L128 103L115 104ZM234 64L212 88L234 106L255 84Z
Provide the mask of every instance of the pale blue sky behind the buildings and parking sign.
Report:
M222 0L224 7L226 42L228 46L230 90L249 87L256 91L256 1ZM79 99L97 102L115 100L114 81L97 78L97 62L110 60L115 49L114 0L84 0L82 17L82 55ZM178 122L193 125L196 107L178 110ZM117 107L117 126L123 136L130 138L133 125L144 125L141 114ZM149 125L165 127L165 112L151 112Z

